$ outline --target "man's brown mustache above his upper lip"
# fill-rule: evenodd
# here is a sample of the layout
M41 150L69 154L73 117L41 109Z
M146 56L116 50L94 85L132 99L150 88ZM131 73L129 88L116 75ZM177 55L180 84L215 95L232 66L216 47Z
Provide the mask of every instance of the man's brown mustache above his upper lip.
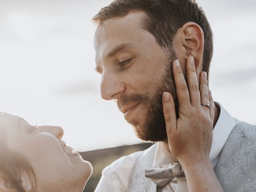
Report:
M148 100L148 96L146 94L131 94L131 95L122 95L119 99L115 100L116 105L119 110L121 110L122 106L126 106L130 103L138 103L144 100Z

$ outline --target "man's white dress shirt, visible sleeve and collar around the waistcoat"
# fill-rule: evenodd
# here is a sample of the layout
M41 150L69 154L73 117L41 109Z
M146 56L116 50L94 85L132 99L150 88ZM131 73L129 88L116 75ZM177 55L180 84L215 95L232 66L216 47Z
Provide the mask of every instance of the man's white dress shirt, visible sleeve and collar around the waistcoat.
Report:
M239 122L239 120L230 116L218 102L215 102L215 104L220 106L220 116L213 129L212 148L210 151L210 161L212 162L213 168L215 168L218 162L218 157L220 156L231 130ZM94 192L127 192L132 167L137 157L140 155L142 155L141 151L128 156L123 156L104 168L100 182ZM158 142L152 167L167 168L173 163L178 163L178 160L172 156L162 142ZM186 179L182 180L182 182L186 183ZM162 192L175 192L176 185L177 179L174 178L169 184L162 188Z

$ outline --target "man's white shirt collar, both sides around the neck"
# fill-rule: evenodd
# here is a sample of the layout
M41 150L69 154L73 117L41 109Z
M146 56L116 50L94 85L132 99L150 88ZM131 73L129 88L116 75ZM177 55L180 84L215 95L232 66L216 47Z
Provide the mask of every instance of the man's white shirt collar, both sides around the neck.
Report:
M218 102L215 102L215 104L220 107L220 116L213 129L210 162L214 162L220 156L230 132L236 126L234 118ZM178 160L167 150L162 142L158 142L153 168L175 163L178 163Z

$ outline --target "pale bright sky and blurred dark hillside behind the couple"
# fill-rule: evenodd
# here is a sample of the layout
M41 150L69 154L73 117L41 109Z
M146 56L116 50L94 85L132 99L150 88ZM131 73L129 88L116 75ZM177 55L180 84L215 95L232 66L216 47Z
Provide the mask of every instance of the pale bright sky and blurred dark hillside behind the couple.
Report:
M62 126L63 140L95 168L88 192L104 166L149 145L139 144L114 101L100 97L91 18L110 2L0 0L0 111L33 125ZM198 4L214 33L214 100L232 116L256 124L256 2Z

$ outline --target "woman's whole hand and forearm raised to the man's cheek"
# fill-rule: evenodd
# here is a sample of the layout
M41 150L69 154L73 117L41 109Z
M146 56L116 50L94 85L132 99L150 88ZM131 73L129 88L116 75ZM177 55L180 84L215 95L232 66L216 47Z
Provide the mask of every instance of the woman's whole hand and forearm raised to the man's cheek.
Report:
M173 73L178 99L178 119L172 95L168 92L163 94L170 152L180 162L190 192L223 192L209 159L214 102L208 90L206 72L200 74L200 87L193 57L187 59L186 72L188 85L178 60L175 60Z

